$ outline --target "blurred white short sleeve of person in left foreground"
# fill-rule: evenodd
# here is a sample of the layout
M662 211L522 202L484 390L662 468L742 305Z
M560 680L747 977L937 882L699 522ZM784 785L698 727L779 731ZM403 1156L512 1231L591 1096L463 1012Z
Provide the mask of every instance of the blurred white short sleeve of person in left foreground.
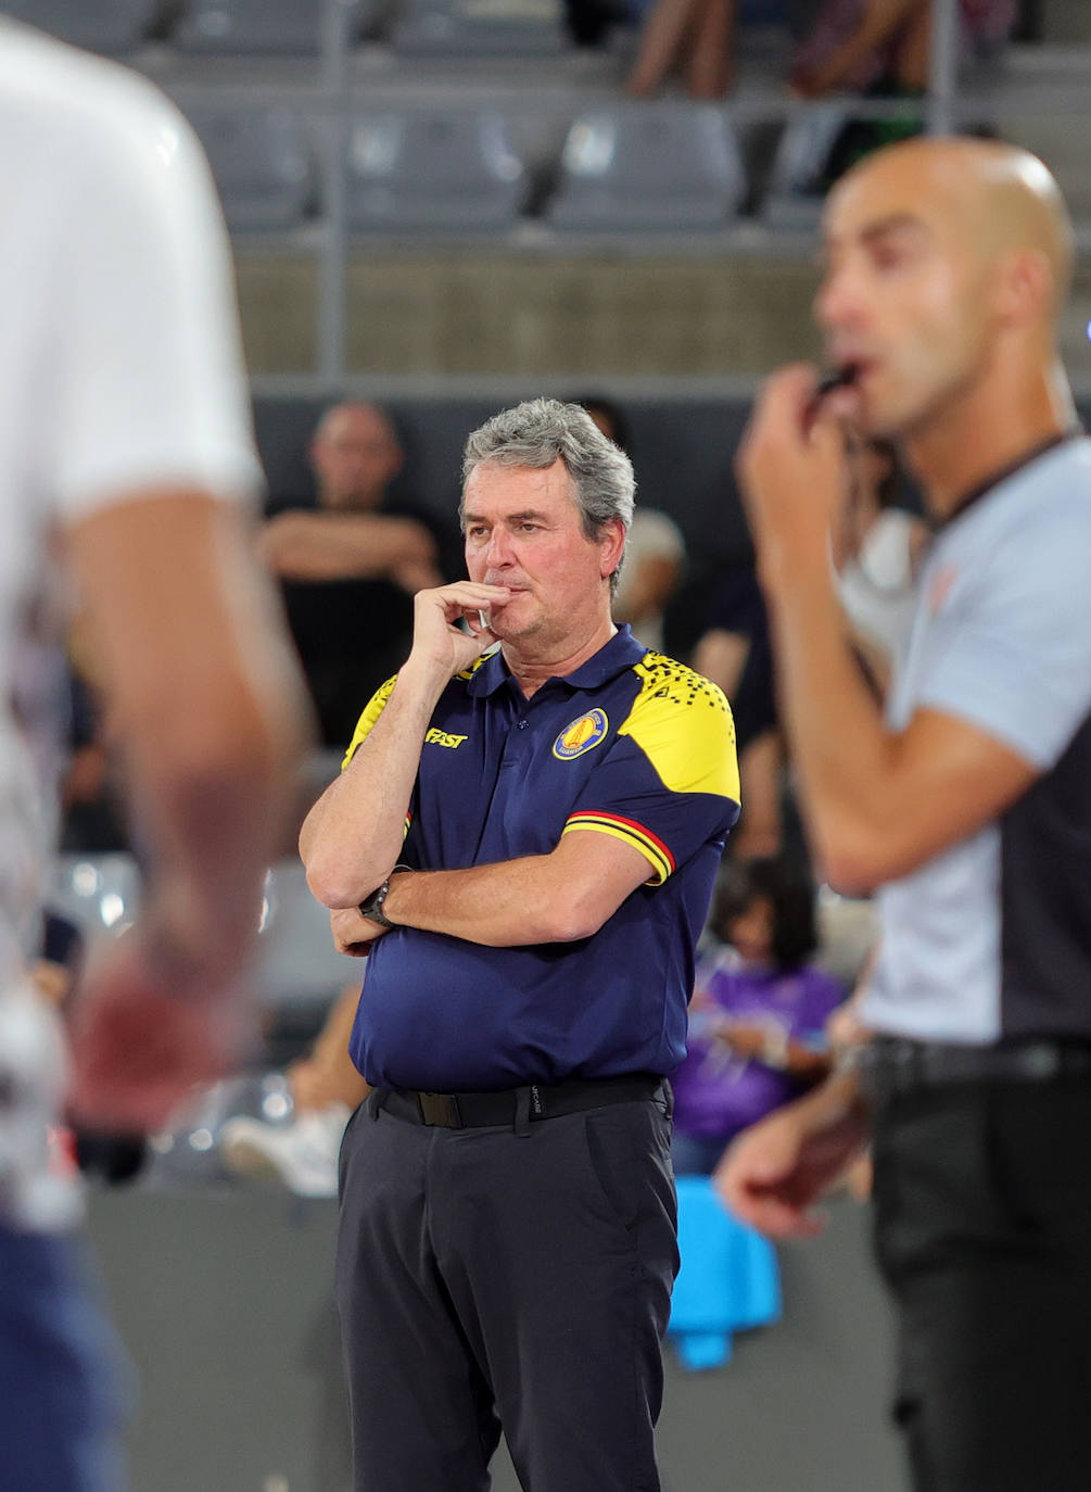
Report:
M143 81L116 84L63 169L43 455L61 518L172 485L255 497L230 246L190 125Z

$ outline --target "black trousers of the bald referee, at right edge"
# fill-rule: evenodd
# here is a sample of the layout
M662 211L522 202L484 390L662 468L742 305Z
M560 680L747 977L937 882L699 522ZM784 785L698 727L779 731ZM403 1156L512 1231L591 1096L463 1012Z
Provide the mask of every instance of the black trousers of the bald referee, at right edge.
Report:
M1087 1492L1091 1082L897 1095L875 1170L916 1492Z

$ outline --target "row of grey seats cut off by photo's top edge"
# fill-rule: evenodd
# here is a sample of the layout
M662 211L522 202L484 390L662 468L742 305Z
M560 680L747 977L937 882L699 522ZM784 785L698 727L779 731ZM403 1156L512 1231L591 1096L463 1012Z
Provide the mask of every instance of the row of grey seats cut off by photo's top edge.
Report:
M349 43L376 25L378 0L336 0ZM328 0L0 0L0 10L78 46L124 55L157 36L184 54L313 55ZM173 16L173 19L172 19ZM403 52L551 54L570 42L560 0L406 0L390 22Z

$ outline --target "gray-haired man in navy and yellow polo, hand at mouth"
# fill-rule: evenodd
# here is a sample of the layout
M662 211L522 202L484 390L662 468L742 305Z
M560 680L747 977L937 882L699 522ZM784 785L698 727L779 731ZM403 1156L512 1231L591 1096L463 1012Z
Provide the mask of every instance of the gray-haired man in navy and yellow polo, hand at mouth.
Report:
M478 1492L503 1428L534 1492L654 1492L664 1077L731 716L610 619L633 473L584 410L497 415L464 477L470 579L416 597L301 836L339 944L372 949L337 1258L355 1485Z

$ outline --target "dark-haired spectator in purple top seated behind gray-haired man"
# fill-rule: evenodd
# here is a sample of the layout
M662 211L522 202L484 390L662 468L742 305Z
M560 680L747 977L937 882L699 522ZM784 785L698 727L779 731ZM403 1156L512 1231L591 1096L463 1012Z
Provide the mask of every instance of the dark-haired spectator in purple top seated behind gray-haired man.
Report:
M672 1079L672 1156L709 1176L727 1144L830 1070L825 1024L845 991L809 959L815 888L785 859L728 862L697 965L687 1058Z

